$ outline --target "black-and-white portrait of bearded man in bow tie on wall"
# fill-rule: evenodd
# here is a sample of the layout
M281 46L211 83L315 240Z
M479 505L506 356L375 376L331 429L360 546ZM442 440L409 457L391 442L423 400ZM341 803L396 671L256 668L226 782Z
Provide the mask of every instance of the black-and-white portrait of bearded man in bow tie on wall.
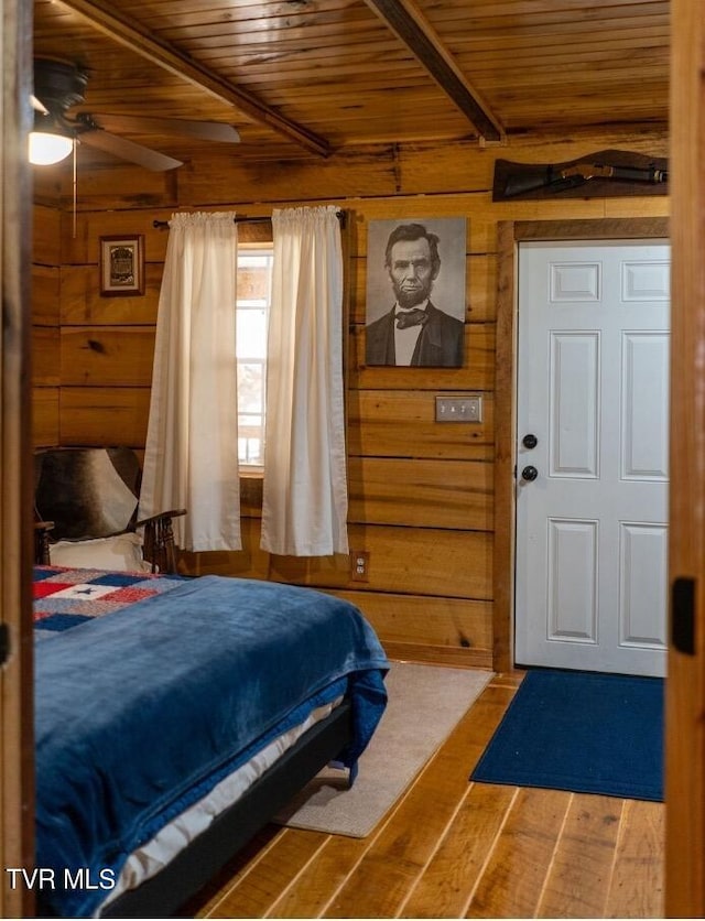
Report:
M463 367L466 234L465 218L369 223L367 365Z

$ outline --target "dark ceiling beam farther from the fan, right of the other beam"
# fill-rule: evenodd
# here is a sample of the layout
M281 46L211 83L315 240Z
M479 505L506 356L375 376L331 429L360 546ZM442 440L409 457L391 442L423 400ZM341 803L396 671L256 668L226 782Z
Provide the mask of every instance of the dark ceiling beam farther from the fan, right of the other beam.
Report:
M480 138L501 142L505 131L456 64L434 28L413 0L365 0L401 39L416 61L438 84Z

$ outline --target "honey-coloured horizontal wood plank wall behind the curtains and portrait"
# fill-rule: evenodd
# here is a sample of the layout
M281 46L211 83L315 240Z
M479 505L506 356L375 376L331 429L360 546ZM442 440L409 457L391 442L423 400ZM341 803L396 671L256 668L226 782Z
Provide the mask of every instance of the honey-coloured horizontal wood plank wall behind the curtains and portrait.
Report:
M78 210L37 206L35 443L142 447L166 231L175 209L268 215L289 204L348 209L350 306L349 538L369 554L368 581L347 557L273 557L259 549L258 484L246 481L245 549L187 555L188 572L267 577L352 599L395 658L492 664L497 225L501 220L668 215L665 196L492 203L497 156L564 162L605 149L666 154L666 139L628 133L339 153L325 162L253 164L237 153L174 174L129 167L79 176ZM68 194L66 194L66 201ZM254 204L254 202L257 204ZM459 369L365 366L367 227L372 219L467 220L466 361ZM61 229L58 223L61 220ZM101 297L99 237L143 234L147 292ZM61 242L61 260L40 259ZM52 256L52 260L54 260ZM41 264L40 264L41 263ZM58 268L57 268L58 267ZM58 311L55 308L58 294ZM479 393L480 424L434 422L437 394Z

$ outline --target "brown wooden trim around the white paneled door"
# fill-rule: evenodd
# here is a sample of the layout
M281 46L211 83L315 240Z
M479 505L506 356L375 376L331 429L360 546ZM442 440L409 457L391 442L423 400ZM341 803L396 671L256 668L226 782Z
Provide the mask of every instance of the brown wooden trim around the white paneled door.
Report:
M629 240L669 237L669 219L503 220L497 226L495 379L495 544L492 668L513 667L514 465L517 418L517 249L528 240Z

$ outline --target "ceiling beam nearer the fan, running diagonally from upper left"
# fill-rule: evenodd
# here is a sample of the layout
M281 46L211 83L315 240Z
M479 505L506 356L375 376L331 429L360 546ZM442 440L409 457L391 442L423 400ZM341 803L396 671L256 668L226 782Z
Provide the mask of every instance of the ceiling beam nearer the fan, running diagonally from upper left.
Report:
M285 118L251 93L229 83L149 30L122 18L106 0L61 0L61 2L84 17L95 29L113 41L200 87L217 99L237 107L254 121L269 126L313 153L322 156L330 154L330 145L324 138Z

